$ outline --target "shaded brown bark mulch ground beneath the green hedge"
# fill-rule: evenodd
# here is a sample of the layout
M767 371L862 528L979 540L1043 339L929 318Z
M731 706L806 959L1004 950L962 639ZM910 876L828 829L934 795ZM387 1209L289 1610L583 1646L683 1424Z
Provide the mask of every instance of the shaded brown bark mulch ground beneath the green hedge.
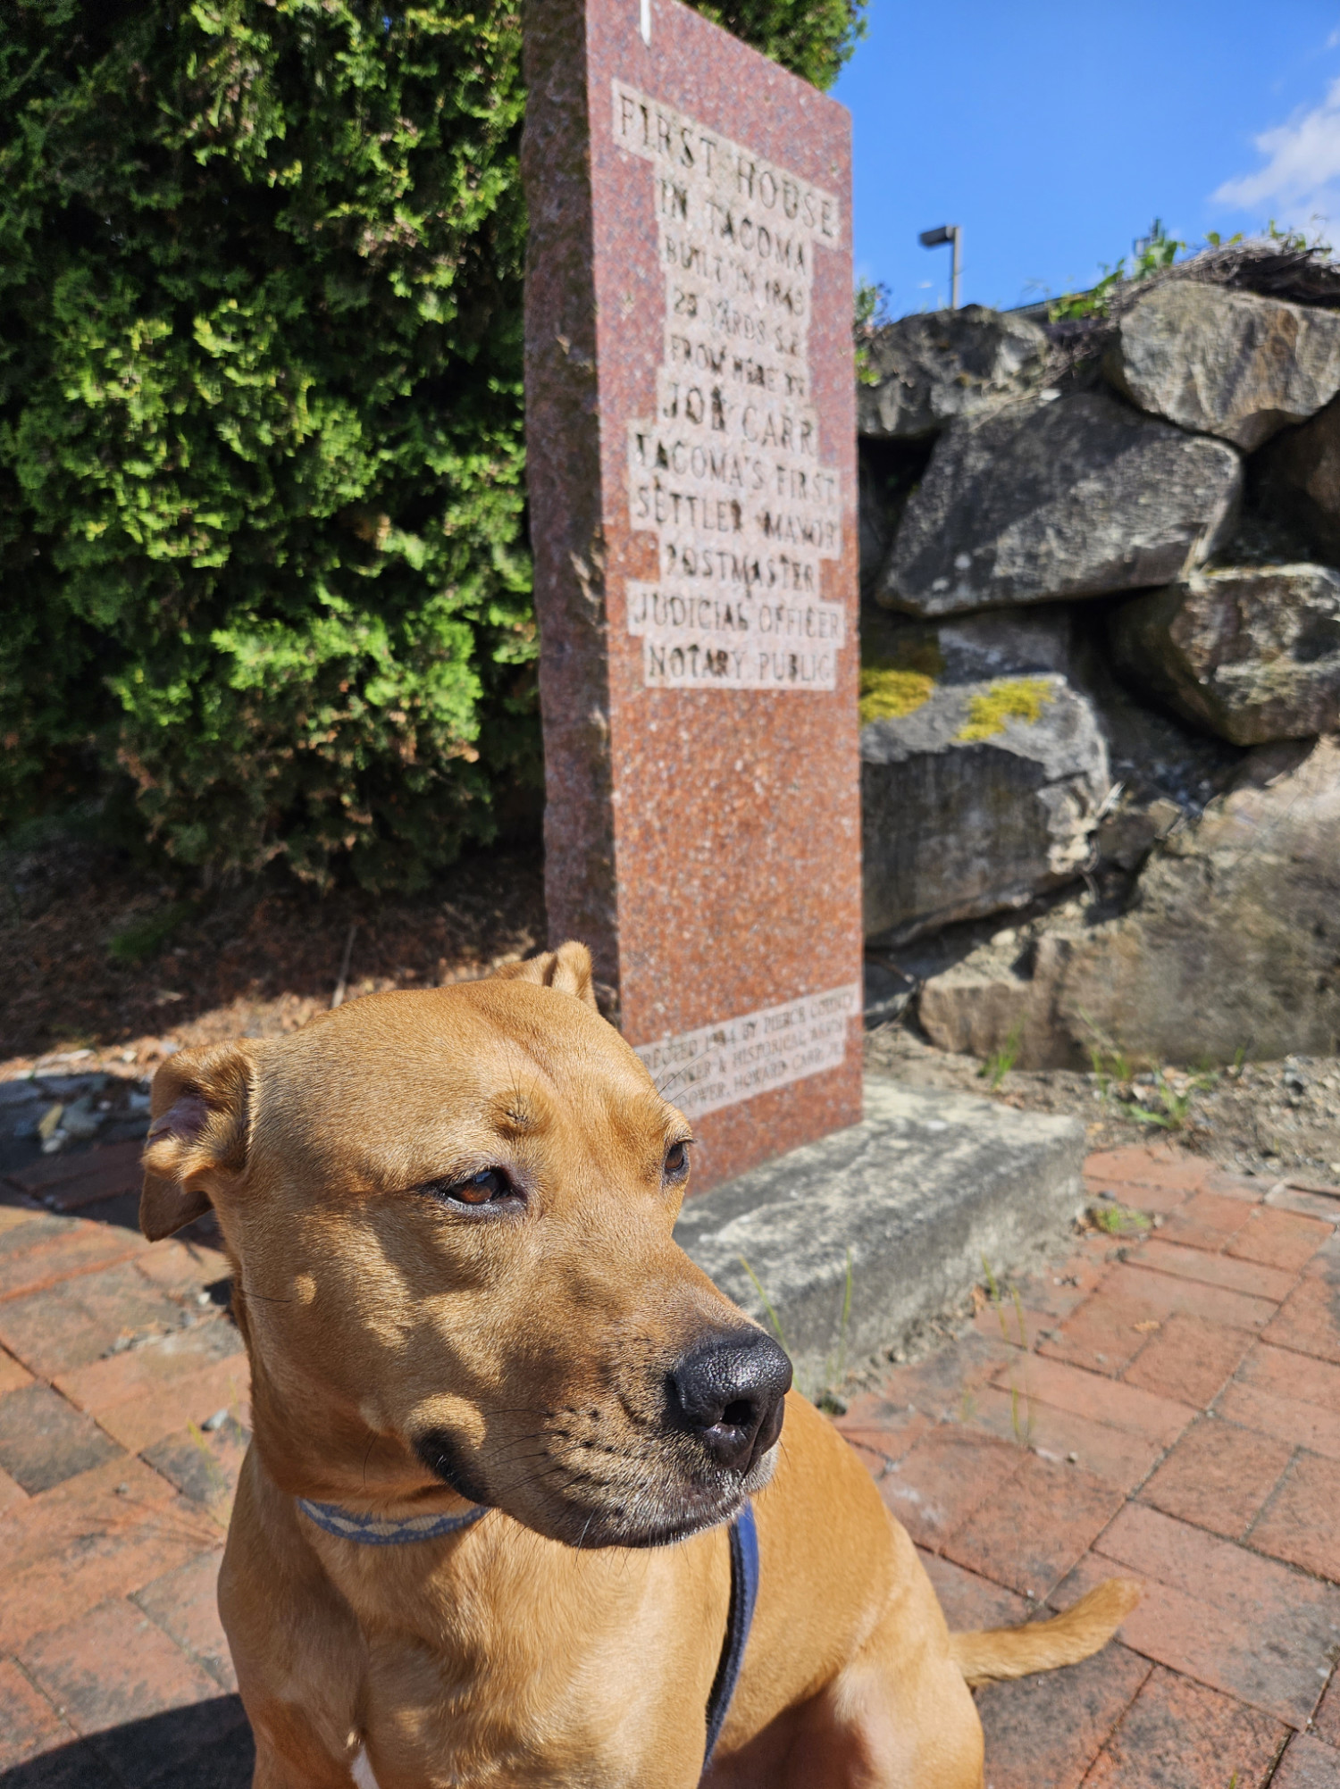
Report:
M72 837L0 857L0 1079L73 1061L143 1072L165 1047L293 1030L345 996L483 975L544 943L535 855L483 855L422 896L292 884L184 896Z

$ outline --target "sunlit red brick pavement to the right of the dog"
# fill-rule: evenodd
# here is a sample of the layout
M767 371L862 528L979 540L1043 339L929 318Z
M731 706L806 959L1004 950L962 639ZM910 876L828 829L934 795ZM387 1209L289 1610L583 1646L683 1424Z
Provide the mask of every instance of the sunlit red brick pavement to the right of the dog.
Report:
M1106 1227L839 1420L952 1626L1145 1585L1097 1658L979 1692L988 1784L1340 1789L1340 1188L1166 1145L1086 1179Z

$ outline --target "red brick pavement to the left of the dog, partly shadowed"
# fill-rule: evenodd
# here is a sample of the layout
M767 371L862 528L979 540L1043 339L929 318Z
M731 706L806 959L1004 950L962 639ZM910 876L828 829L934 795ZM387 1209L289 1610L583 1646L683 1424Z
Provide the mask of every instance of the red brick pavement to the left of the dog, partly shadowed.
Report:
M0 1784L243 1789L215 1610L247 1360L208 1225L136 1229L138 1143L0 1183Z

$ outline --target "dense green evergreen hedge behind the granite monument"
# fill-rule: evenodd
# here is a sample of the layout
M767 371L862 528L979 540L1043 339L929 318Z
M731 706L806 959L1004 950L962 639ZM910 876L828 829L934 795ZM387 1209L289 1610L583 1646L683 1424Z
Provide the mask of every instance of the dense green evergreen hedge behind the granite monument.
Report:
M864 0L701 11L828 82ZM539 785L515 4L0 14L0 827L415 887Z

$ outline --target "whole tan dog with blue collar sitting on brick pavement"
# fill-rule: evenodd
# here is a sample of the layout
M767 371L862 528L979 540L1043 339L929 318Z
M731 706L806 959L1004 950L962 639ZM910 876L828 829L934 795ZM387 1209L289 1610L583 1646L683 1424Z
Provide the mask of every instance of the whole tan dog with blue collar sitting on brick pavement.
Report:
M1132 1605L948 1633L864 1467L671 1240L689 1136L580 945L159 1068L143 1229L216 1209L250 1354L218 1598L258 1789L691 1789L746 1499L714 1789L979 1789L968 1683L1084 1658Z

